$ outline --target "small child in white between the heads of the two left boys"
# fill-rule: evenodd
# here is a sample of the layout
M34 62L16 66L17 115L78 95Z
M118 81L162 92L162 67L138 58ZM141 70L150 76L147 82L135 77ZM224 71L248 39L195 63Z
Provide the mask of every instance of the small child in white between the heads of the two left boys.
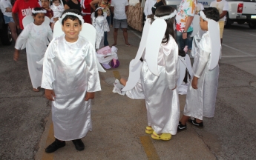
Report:
M59 2L59 0L53 0L53 4L50 6L50 9L53 10L53 17L50 19L52 22L51 28L53 30L55 22L60 16L62 16L64 6Z

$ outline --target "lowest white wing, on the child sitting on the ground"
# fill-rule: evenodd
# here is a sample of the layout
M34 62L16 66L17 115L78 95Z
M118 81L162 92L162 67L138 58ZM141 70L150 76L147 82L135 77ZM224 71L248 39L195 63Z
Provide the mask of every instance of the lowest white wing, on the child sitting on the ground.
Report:
M135 66L133 66L133 64L134 64L134 59L131 60L130 62L128 81L126 82L125 87L122 88L122 91L128 91L133 89L136 86L137 82L140 80L142 62L138 61Z

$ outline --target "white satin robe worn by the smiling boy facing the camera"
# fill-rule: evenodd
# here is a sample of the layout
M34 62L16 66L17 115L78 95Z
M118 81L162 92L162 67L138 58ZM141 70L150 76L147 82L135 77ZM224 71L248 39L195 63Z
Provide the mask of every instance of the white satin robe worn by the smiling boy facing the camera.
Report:
M81 139L92 130L91 99L86 92L101 90L95 49L82 36L70 43L65 36L51 41L44 60L42 87L53 90L54 136L62 141Z

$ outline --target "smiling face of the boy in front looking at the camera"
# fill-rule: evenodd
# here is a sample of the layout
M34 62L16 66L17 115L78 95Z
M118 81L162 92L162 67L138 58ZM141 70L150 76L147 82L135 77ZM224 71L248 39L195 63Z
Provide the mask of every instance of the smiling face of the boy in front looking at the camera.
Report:
M65 33L65 39L68 42L75 42L79 37L79 33L82 30L82 26L79 24L79 20L67 19L62 25L62 30Z

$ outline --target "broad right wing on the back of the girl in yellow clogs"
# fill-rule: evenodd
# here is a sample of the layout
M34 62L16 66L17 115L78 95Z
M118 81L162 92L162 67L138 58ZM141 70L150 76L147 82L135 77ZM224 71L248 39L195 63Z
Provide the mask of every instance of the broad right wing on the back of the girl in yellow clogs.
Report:
M148 64L148 69L156 76L159 76L157 67L157 57L160 49L160 45L165 36L167 24L163 19L156 19L151 24L148 32L148 39L145 47L145 59Z

